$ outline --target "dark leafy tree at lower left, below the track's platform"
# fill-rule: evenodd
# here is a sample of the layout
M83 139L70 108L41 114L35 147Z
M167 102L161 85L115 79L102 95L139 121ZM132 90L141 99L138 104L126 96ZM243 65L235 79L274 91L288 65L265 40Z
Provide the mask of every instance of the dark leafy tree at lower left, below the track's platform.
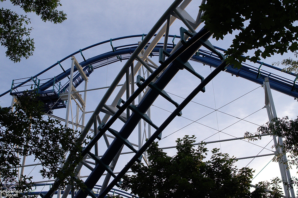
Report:
M60 168L67 152L81 159L82 147L76 144L78 132L64 128L59 120L44 119L44 104L34 92L18 97L18 102L13 112L11 108L0 109L0 183L7 178L18 178L18 169L14 167L21 165L21 156L32 155L36 163L41 163L43 178L66 178L60 188L67 184L82 187L83 183L74 178L75 167ZM29 192L32 176L21 175L21 178L16 189Z

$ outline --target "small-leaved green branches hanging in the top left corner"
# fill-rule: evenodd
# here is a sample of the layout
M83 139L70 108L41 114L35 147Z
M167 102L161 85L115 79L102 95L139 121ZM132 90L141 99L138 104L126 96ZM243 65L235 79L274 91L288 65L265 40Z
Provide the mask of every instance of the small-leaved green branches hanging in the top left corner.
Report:
M6 0L0 0L1 2ZM21 7L25 13L33 12L46 22L54 24L66 20L66 14L57 8L62 6L60 0L10 0L14 6ZM29 58L34 51L34 40L30 38L32 27L27 27L30 19L9 9L0 9L0 43L7 48L6 56L13 62Z

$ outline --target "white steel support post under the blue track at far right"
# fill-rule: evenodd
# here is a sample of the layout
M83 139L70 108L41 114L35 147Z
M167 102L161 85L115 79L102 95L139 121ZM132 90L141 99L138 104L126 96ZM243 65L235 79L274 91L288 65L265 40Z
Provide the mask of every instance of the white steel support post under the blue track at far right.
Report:
M268 114L268 118L269 118L269 122L270 123L273 123L272 122L272 119L273 118L277 118L277 114L276 114L276 110L275 110L275 106L274 106L274 102L273 102L273 97L272 97L272 94L271 94L271 89L270 89L270 85L269 85L269 78L265 78L265 82L263 84L264 86L264 91L265 91L265 107L267 109L267 114ZM280 145L283 145L283 139L281 137L277 137L277 136L273 136L273 141L274 141L274 145L275 145L275 148L276 148L276 152L277 154L279 153L282 153L282 148L278 147L278 142L277 142L277 139L278 138L278 142ZM283 159L286 161L287 158L285 155L283 155ZM293 189L293 185L291 184L291 174L290 174L290 171L287 170L287 166L283 164L283 162L279 162L279 167L280 167L280 174L281 174L281 177L283 179L283 188L284 188L284 191L285 191L285 196L286 197L292 197L294 198L295 197L295 194L294 194L294 189ZM290 189L288 189L288 185L285 185L285 183L288 183ZM291 196L290 196L290 191L291 191Z

